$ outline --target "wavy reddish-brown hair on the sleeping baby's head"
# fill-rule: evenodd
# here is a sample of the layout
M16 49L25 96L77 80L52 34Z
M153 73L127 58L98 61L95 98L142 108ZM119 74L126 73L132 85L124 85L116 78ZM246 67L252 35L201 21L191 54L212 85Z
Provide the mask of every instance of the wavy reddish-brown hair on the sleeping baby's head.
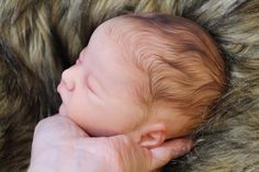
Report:
M148 76L148 89L145 83L138 89L142 102L149 110L159 104L193 119L204 118L226 88L224 60L212 37L182 18L122 18L125 25L113 26L121 32L116 38L127 42L125 56L134 56L134 65Z

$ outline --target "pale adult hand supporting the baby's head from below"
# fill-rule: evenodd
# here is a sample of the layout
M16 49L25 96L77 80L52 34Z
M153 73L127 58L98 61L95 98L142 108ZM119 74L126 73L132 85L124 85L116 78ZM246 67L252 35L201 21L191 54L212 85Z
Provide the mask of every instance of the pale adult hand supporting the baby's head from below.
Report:
M190 140L174 139L147 149L124 135L89 137L68 117L54 115L35 128L29 172L150 172L191 146Z

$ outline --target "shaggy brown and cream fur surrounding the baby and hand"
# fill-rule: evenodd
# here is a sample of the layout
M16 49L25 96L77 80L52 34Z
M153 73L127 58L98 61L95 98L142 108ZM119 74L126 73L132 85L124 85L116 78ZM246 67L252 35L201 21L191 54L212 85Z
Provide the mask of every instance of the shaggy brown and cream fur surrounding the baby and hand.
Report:
M132 12L199 23L228 65L229 89L194 135L195 149L164 171L259 171L259 0L1 0L1 172L26 171L35 124L60 104L61 71L100 23Z

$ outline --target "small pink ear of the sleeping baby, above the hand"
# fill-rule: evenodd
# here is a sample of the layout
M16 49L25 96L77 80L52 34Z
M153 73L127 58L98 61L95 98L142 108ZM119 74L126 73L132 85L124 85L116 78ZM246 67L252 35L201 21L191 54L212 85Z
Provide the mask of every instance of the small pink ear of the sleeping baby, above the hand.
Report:
M146 148L159 147L166 140L166 126L162 123L145 126L139 145Z

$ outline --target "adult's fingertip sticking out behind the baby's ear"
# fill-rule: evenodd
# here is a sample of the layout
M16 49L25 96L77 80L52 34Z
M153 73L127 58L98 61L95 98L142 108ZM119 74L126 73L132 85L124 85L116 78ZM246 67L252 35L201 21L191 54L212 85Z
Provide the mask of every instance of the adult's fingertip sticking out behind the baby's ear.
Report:
M150 149L151 170L156 170L167 164L171 159L176 159L188 153L192 149L192 141L189 139L173 139L166 141L158 148Z

